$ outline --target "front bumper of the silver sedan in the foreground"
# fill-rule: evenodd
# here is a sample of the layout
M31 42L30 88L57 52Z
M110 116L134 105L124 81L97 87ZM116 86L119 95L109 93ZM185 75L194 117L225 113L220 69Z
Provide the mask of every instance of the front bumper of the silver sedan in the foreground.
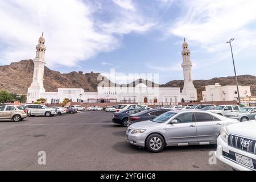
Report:
M131 130L129 133L126 131L126 140L130 144L133 144L134 146L138 147L145 147L145 140L146 140L146 134L139 133L139 134L131 134L133 130Z

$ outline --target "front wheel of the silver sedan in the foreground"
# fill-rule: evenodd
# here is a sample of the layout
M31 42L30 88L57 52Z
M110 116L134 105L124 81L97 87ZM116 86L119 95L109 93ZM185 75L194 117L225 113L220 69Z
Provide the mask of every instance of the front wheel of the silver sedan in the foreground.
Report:
M146 147L150 152L160 152L165 146L164 139L159 134L151 134L146 139Z

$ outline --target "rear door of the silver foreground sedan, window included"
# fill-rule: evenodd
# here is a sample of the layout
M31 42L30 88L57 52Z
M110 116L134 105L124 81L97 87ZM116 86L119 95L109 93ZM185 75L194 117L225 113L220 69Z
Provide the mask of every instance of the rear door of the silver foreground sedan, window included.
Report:
M195 112L197 142L209 144L217 140L220 129L223 126L221 119L208 113Z

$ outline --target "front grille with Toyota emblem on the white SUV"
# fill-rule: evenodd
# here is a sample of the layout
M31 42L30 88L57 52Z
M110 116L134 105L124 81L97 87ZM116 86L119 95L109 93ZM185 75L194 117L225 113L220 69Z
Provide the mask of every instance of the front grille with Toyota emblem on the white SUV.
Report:
M246 141L249 143L249 147L242 146L242 142ZM251 140L247 138L237 137L235 135L229 135L228 144L231 147L238 148L243 151L247 151L256 154L256 140Z

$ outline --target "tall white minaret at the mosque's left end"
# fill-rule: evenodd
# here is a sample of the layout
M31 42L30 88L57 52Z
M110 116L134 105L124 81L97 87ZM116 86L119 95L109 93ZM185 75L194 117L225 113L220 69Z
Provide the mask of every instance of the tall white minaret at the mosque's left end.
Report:
M44 93L46 90L44 89L43 80L44 80L44 66L46 65L46 60L44 59L44 55L46 53L46 46L44 45L46 40L42 36L40 36L38 40L38 45L36 46L36 57L34 59L34 74L33 81L28 88L27 94L27 102L35 102L38 98L40 98L40 93Z

